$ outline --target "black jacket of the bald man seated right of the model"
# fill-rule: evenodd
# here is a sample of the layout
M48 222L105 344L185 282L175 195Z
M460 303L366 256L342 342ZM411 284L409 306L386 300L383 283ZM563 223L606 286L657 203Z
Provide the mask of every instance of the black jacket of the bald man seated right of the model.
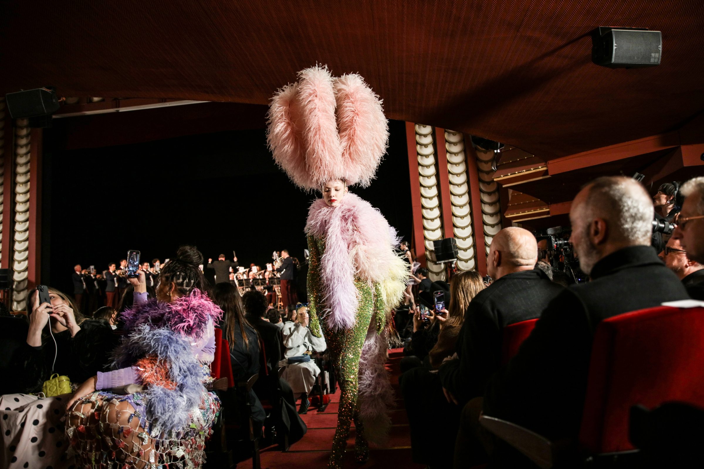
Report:
M477 293L455 344L460 359L440 367L443 387L460 404L484 394L487 380L501 367L504 326L539 318L564 290L533 269L503 276Z

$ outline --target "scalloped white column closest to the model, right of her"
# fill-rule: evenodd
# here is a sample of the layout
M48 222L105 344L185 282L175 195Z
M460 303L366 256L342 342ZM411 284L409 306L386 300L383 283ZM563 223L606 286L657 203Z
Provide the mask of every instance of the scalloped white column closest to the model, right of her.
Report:
M428 277L432 281L445 280L445 264L433 261L434 240L442 239L442 210L438 193L437 169L434 147L434 127L415 124L415 151L418 158L418 181L420 181L420 205L423 215L423 238Z

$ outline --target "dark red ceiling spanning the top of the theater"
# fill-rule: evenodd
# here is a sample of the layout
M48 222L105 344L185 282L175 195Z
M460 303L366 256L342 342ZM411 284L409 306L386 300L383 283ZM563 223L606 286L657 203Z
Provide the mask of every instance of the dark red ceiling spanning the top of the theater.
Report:
M316 62L359 72L387 117L557 158L704 110L704 2L67 1L0 7L0 93L265 104ZM661 30L662 65L590 60L593 27Z

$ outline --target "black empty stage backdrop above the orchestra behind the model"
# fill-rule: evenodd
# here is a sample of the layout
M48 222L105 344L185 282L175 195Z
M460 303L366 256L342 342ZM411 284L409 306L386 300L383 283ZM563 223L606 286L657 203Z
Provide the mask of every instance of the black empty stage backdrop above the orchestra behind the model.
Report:
M303 259L308 205L318 195L275 165L264 129L64 150L63 122L44 132L42 283L73 293L75 264L103 271L129 249L162 264L184 244L196 245L205 262L232 250L246 266L264 266L282 249ZM410 239L406 129L400 121L389 127L377 179L351 190Z

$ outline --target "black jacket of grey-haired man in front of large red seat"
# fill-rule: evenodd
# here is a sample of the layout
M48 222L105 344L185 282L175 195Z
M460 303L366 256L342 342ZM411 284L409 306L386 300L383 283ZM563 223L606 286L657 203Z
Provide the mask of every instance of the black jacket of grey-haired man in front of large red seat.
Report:
M596 263L591 278L556 297L518 354L491 377L484 394L486 415L550 439L576 438L596 325L689 297L650 246L613 252Z

